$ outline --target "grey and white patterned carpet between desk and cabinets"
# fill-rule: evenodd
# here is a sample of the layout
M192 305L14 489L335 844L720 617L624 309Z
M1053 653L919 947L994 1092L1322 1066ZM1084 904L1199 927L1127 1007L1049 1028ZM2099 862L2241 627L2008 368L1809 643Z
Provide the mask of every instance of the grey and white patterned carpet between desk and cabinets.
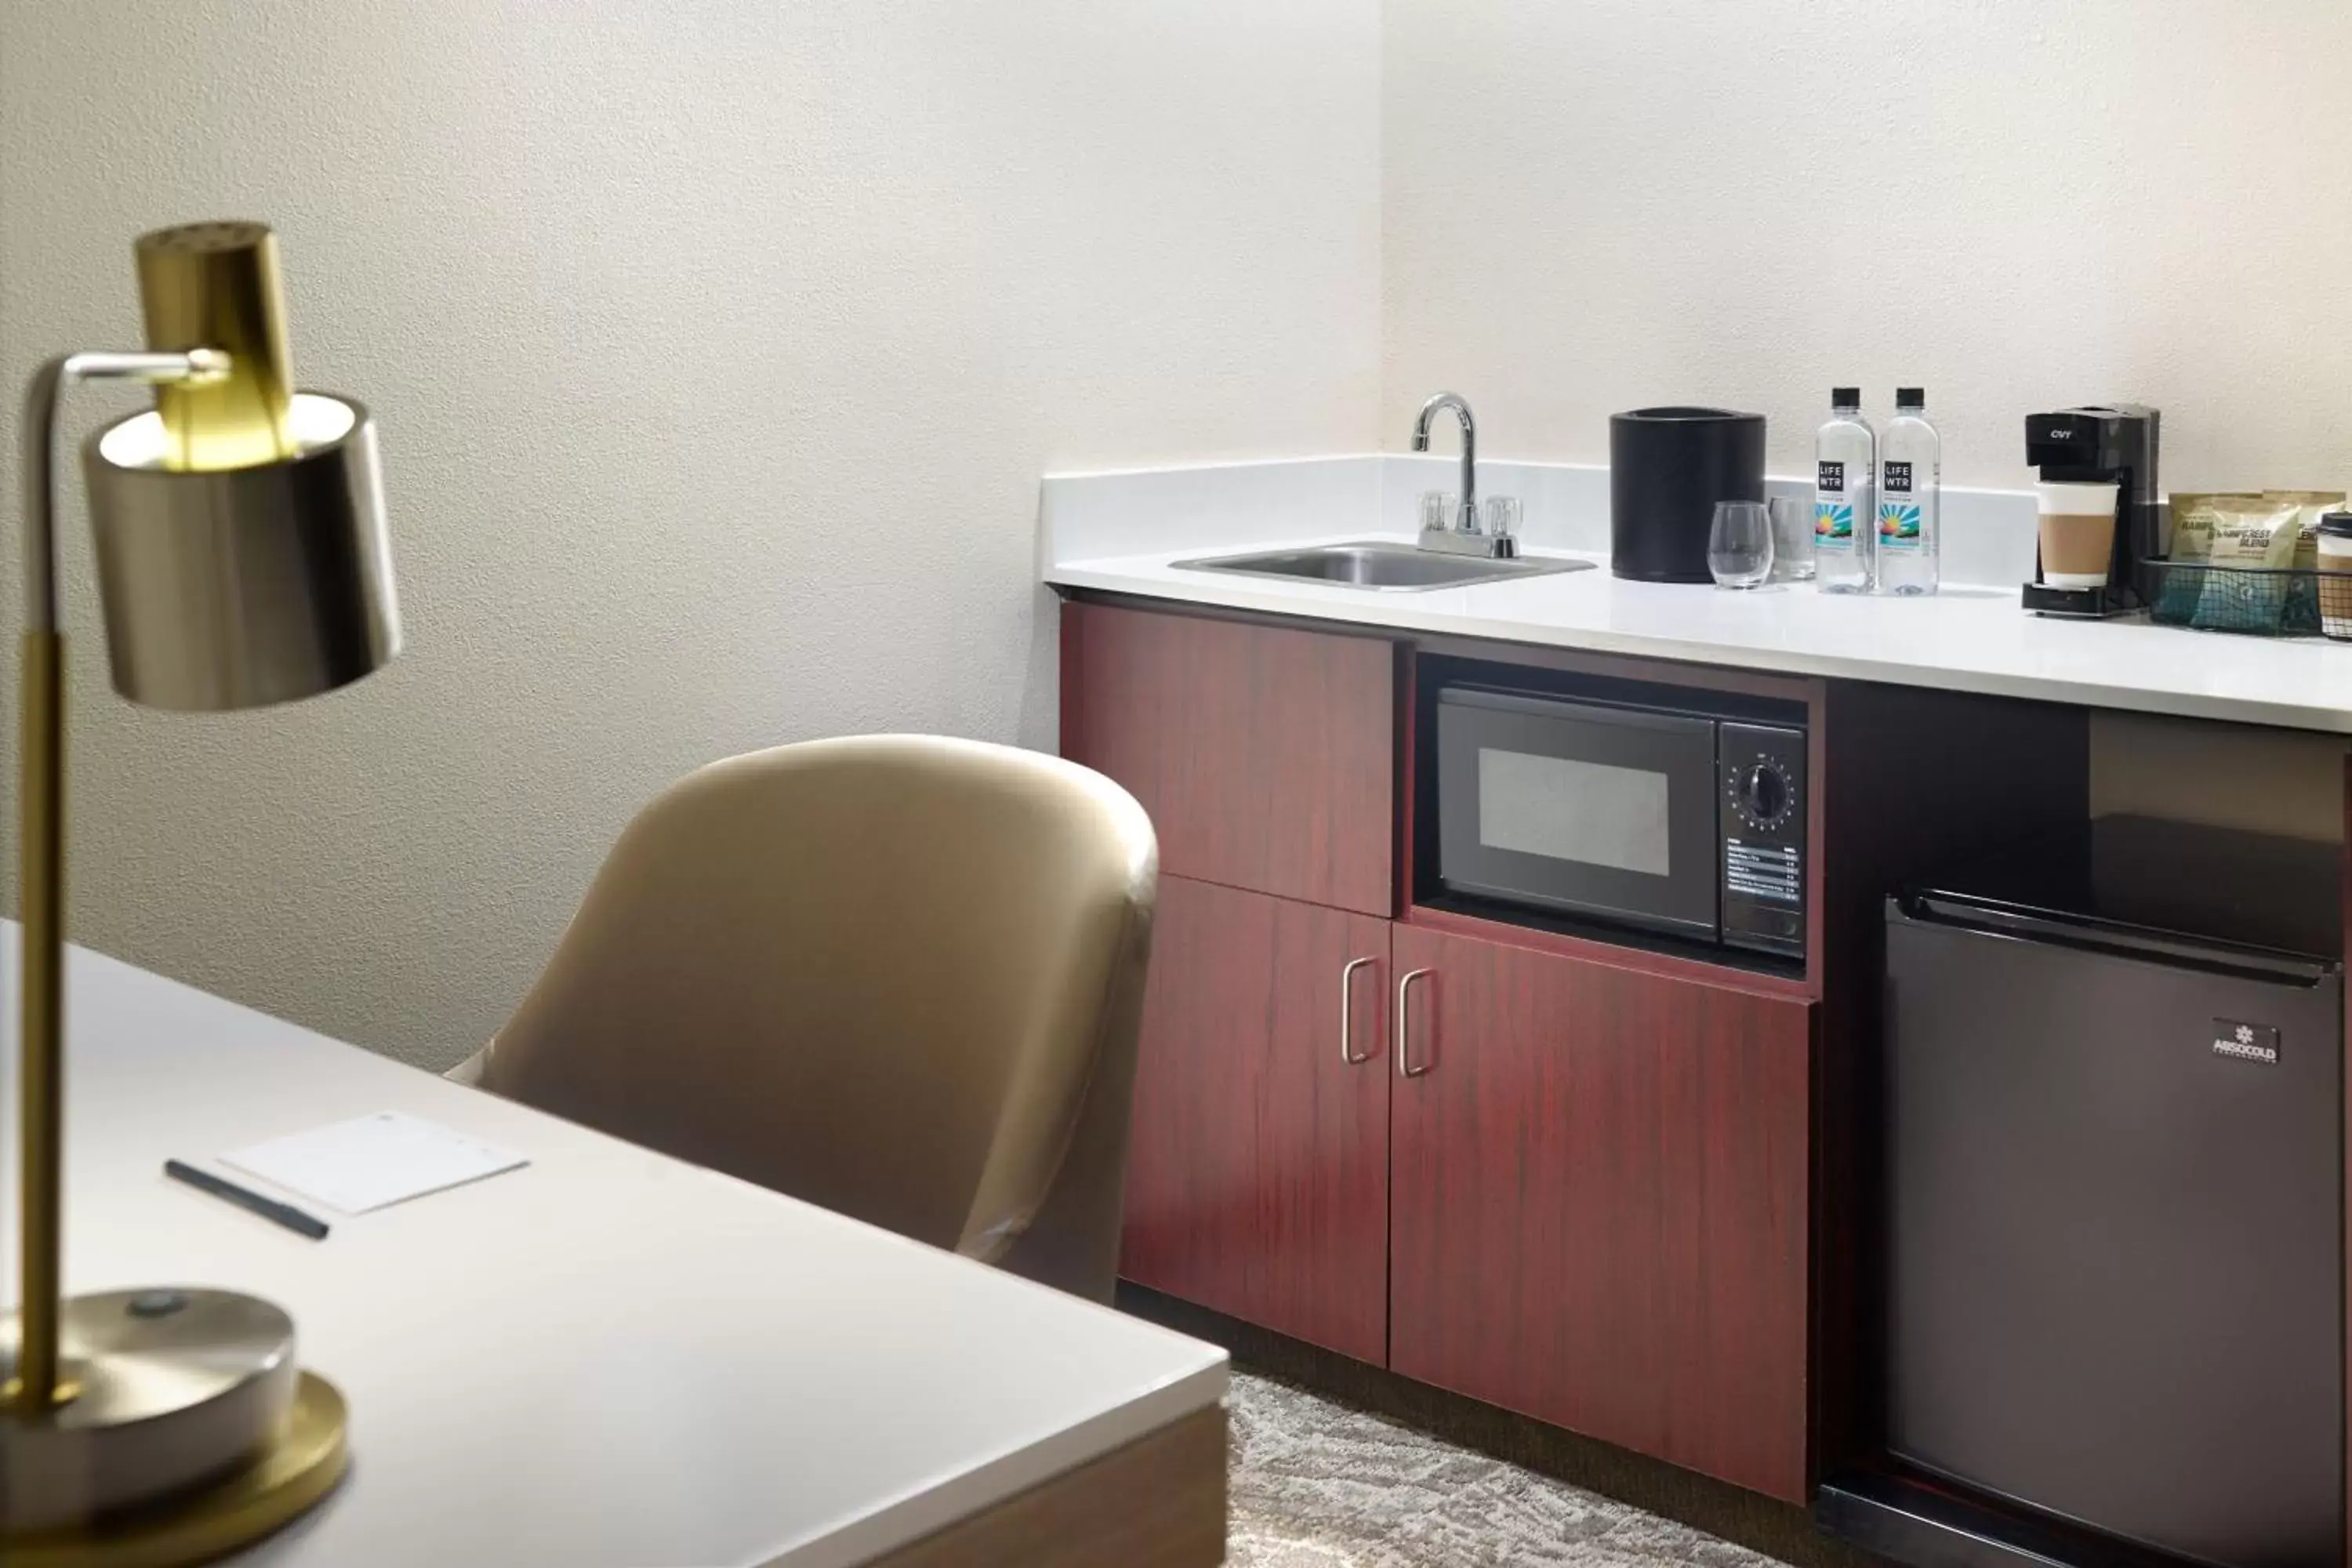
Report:
M1230 1568L1780 1568L1282 1382L1232 1378Z

